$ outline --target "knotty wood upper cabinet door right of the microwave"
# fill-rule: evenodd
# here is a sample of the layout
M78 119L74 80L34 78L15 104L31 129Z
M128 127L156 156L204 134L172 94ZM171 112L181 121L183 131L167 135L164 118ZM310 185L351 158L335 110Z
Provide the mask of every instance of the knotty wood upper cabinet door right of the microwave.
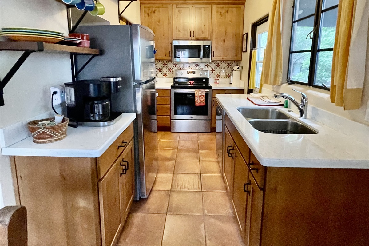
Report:
M213 60L241 60L243 5L213 5L211 41Z

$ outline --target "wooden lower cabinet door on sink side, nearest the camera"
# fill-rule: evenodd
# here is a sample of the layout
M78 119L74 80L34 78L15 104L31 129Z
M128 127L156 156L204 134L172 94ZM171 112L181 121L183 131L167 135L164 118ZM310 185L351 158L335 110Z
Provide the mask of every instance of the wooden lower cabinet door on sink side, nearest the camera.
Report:
M251 172L248 173L245 245L260 245L263 191L259 189Z

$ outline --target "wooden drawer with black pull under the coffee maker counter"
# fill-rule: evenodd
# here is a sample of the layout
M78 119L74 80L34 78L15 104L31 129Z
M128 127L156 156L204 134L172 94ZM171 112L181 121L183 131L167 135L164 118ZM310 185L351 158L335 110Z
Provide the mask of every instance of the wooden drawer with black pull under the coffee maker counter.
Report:
M101 179L133 138L133 122L122 132L110 147L97 158L97 177Z

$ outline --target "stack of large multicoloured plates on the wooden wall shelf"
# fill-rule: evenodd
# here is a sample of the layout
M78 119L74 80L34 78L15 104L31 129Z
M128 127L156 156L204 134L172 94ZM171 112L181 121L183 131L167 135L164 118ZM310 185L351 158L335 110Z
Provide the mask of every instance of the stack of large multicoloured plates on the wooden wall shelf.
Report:
M0 36L12 41L36 41L56 43L64 40L64 33L52 30L28 27L3 27Z

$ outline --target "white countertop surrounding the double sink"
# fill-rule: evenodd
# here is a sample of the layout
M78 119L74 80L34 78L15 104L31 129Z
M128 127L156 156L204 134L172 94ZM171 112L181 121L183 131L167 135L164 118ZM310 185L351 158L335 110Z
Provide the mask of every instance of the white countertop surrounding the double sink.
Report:
M360 142L317 121L299 118L283 107L276 108L319 131L318 134L269 134L256 130L237 110L259 107L248 95L216 95L246 144L263 166L369 169L369 139ZM266 108L266 107L264 107ZM352 131L352 129L351 129Z

